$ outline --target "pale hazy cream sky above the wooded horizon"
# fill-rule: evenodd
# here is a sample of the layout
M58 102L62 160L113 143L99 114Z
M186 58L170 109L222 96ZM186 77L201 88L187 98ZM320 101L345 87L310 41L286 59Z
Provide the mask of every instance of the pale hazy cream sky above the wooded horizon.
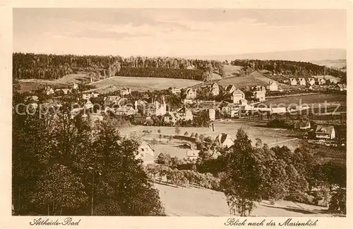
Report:
M346 43L346 13L339 9L13 9L14 52L202 56Z

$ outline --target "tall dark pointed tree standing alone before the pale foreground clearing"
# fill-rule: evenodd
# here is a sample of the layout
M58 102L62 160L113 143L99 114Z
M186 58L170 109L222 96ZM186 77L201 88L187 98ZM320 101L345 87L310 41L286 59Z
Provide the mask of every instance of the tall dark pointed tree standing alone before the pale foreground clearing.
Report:
M263 173L261 158L251 146L246 132L239 129L233 151L227 155L225 177L221 180L231 213L246 216L255 207L255 202L261 201Z

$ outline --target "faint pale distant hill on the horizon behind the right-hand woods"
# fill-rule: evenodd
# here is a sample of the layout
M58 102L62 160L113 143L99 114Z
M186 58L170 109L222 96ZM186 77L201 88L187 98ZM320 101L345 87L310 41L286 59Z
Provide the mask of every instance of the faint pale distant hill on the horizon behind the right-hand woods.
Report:
M210 56L183 56L184 58L198 58L218 61L234 59L285 60L285 61L312 61L312 60L339 60L346 58L345 49L305 49L293 51L271 51L263 53L210 55Z

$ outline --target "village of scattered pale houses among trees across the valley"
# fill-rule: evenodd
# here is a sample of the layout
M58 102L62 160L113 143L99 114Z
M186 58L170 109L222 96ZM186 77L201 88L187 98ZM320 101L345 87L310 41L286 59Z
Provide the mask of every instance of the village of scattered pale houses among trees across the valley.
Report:
M325 80L324 78L291 78L288 83L292 86L305 86L313 91L312 93L315 93L315 89L318 87L321 90L324 87L330 92L337 93L347 90L346 85L338 83L337 80ZM54 89L47 85L37 90L36 93L39 94L29 96L28 101L31 102L32 106L37 107L38 97L42 94L46 98L45 104L47 106L60 107L61 99L72 97L71 118L80 115L90 120L92 125L96 120L103 120L104 118L128 120L132 128L135 126L134 131L143 135L144 140L141 143L138 157L143 159L145 163L154 163L157 156L164 151L175 151L169 149L169 144L167 147L155 146L155 138L158 138L161 132L169 132L168 136L164 135L163 137L167 142L170 142L170 140L167 140L170 137L179 137L179 144L189 145L187 149L177 150L176 156L181 159L196 159L200 150L192 142L195 142L198 135L213 136L214 142L218 142L217 144L222 147L231 147L234 141L231 135L234 135L237 125L253 125L253 123L260 123L268 129L284 128L295 131L295 134L290 134L292 138L289 140L287 136L278 136L284 137L280 142L289 141L287 143L290 143L290 141L295 142L301 139L309 141L311 144L328 146L345 144L345 137L343 137L345 135L345 130L343 130L345 123L342 123L342 120L345 119L342 118L342 115L345 112L335 113L336 115L339 113L338 116L335 116L339 117L340 122L338 123L337 120L322 122L322 118L318 120L318 116L315 116L315 111L318 110L313 107L303 107L301 104L291 107L283 106L283 104L282 106L265 104L266 100L276 97L268 96L271 93L286 91L281 88L282 84L274 80L269 80L266 86L257 85L241 88L237 88L235 85L223 87L218 85L217 82L209 81L188 88L170 87L160 92L152 92L150 96L148 96L148 93L131 91L131 88L128 87L109 94L100 94L97 89L81 92L80 87L82 85L79 85L76 80L73 80L68 88ZM136 93L138 96L133 96ZM300 95L300 93L302 93L301 89L297 90L297 94ZM173 104L168 101L173 101ZM334 117L332 113L326 113L325 115ZM315 117L316 120L314 120ZM249 124L249 121L251 124ZM219 128L219 126L225 122L231 122L234 129L230 132L222 132L223 128ZM158 127L159 134L155 133L155 138L146 137L145 132L152 132L152 130L148 130L152 127ZM170 131L171 128L172 131ZM181 133L174 128L184 128L186 132ZM124 131L127 135L131 134L129 130ZM278 137L276 137L276 140L272 139L273 142L268 142L268 144L276 144ZM161 142L162 137L159 138ZM160 151L155 151L159 148ZM148 153L146 154L146 152Z

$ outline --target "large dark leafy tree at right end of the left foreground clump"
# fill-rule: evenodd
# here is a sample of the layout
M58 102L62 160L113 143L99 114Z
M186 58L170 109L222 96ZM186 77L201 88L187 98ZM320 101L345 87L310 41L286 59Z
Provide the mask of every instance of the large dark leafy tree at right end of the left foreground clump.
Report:
M98 215L102 206L108 215L160 216L164 214L158 191L152 187L142 161L136 159L138 142L121 137L108 122L97 126L97 139L93 142L97 156L95 169L102 175L95 188L95 209ZM102 205L112 202L113 205Z

